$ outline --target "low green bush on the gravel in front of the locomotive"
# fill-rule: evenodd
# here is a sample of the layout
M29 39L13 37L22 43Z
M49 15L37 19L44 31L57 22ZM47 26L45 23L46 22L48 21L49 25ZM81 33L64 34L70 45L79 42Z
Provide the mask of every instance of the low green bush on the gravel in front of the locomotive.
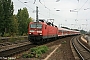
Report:
M30 53L29 54L24 54L23 57L24 58L32 58L32 57L40 57L41 54L45 53L46 51L48 51L48 47L47 46L39 46L39 47L34 47L30 49Z

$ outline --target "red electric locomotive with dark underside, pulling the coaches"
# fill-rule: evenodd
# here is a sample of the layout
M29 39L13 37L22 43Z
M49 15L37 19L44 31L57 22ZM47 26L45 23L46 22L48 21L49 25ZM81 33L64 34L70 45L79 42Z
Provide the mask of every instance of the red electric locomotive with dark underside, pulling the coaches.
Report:
M58 37L58 28L43 20L39 22L30 22L28 26L28 40L32 43L42 43L47 39Z

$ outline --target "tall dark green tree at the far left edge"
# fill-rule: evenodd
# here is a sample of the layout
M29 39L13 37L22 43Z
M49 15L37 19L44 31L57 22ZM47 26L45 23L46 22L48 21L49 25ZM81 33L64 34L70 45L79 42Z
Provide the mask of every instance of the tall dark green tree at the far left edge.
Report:
M11 30L11 17L13 16L13 2L11 0L0 0L0 33L9 33Z

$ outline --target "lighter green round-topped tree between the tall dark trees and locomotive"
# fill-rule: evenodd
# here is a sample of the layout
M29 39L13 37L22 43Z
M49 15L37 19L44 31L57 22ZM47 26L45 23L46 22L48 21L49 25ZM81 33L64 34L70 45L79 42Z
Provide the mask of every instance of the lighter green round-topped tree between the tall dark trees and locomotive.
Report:
M19 34L23 35L24 33L27 33L28 23L32 20L31 18L29 18L27 8L18 10L17 19L19 23Z

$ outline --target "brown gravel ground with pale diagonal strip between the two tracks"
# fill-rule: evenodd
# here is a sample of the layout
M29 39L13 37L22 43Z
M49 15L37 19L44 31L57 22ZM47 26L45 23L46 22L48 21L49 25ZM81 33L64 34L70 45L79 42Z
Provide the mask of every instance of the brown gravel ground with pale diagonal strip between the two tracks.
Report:
M70 40L72 37L65 37L45 44L49 50L39 58L19 58L18 60L75 60Z

